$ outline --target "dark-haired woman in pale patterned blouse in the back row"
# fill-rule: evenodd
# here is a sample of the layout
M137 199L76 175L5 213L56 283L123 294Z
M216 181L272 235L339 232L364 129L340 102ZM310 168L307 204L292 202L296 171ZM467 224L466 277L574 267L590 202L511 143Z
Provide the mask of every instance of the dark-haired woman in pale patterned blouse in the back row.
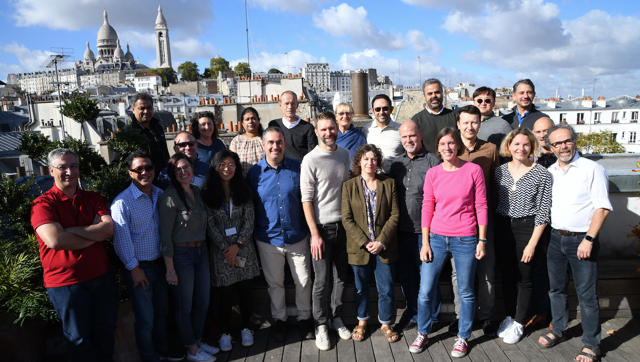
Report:
M229 144L229 149L238 156L242 164L243 174L264 157L264 146L262 146L262 124L258 111L253 107L247 107L240 115L242 128L240 133Z

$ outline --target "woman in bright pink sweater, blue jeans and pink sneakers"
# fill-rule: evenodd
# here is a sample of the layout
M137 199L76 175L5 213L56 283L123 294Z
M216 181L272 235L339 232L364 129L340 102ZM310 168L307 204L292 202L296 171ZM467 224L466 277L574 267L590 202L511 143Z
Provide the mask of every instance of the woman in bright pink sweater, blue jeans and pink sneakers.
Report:
M456 128L442 129L436 138L436 147L444 162L431 167L424 179L418 336L409 351L422 352L427 344L438 279L451 254L456 262L461 301L458 338L451 356L463 357L467 354L476 310L476 263L484 257L486 243L486 190L482 169L458 158L463 154L464 145Z

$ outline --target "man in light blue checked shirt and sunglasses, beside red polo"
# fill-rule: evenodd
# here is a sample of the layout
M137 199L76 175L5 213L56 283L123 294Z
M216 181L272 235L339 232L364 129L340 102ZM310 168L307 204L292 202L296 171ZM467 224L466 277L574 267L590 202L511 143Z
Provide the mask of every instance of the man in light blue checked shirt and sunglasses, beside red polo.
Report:
M127 167L131 185L113 200L111 217L113 245L126 269L125 282L136 316L136 344L143 361L180 361L184 352L174 356L166 340L168 285L156 209L162 190L152 185L154 165L147 151L131 153Z

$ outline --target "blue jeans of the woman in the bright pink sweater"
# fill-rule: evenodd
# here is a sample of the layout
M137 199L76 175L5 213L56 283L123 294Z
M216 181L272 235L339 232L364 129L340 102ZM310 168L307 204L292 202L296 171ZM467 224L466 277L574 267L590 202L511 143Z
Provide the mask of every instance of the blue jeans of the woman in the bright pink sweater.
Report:
M431 314L437 303L440 274L449 255L456 260L458 296L460 296L460 338L471 336L471 326L476 310L474 278L476 276L476 236L442 236L429 233L429 244L433 251L432 262L422 262L420 267L420 292L418 295L418 331L423 335L431 331Z

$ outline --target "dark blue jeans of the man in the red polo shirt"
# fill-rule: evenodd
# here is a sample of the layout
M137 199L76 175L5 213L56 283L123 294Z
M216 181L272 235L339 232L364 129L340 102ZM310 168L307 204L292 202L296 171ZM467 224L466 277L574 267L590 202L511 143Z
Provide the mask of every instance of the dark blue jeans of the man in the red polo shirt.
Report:
M113 269L64 287L47 288L67 338L71 361L113 361L118 289Z

